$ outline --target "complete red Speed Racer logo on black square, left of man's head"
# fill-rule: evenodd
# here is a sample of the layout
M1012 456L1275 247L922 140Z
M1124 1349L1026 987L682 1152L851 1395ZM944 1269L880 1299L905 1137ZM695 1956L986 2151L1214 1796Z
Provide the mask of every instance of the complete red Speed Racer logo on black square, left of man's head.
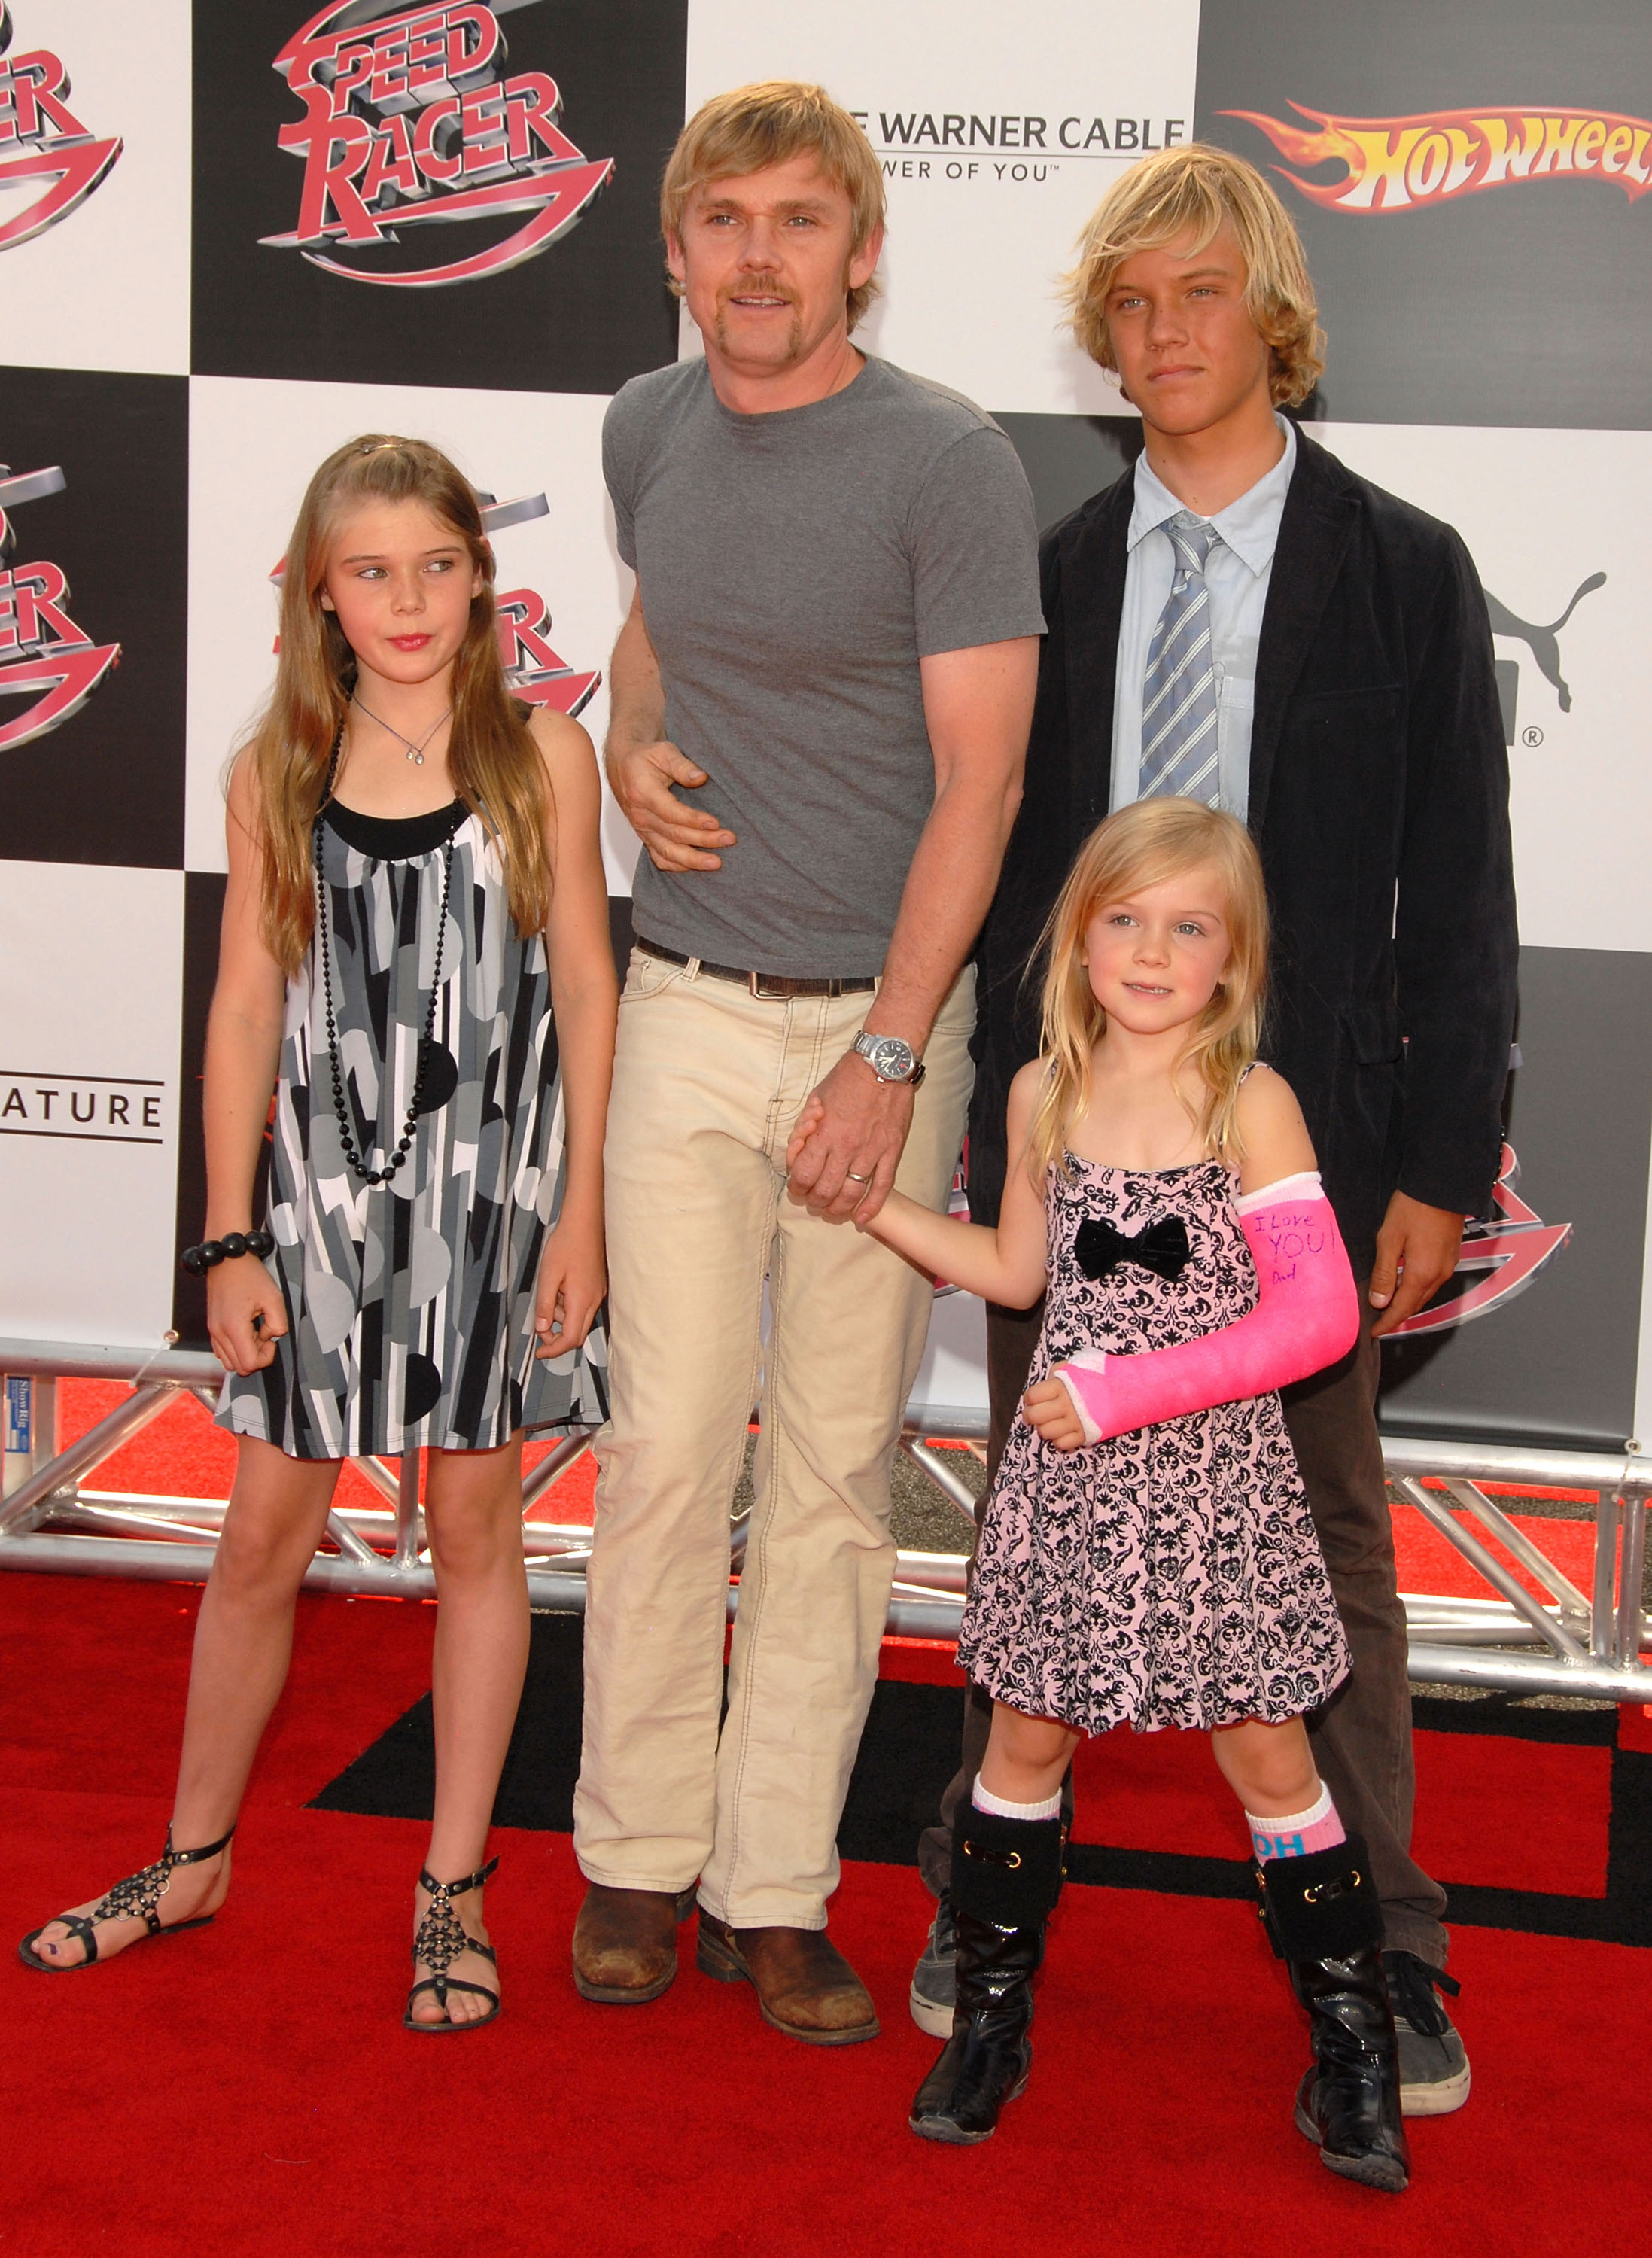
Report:
M546 251L582 219L614 172L557 126L562 90L542 70L506 75L499 7L384 11L334 0L275 56L305 106L280 147L305 163L298 228L266 235L311 266L397 289L476 282ZM433 266L363 266L336 253L397 244L411 228L519 221Z

